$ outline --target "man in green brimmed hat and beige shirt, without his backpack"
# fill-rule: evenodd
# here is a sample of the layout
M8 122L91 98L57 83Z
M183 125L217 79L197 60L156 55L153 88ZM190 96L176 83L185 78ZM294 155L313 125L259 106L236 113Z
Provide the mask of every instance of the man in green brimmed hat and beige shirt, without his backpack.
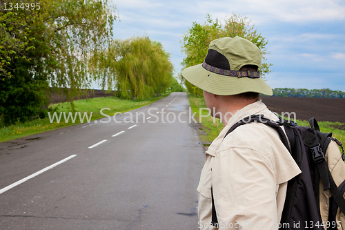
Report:
M272 95L259 77L261 59L250 41L224 37L211 41L203 64L182 71L225 126L206 151L197 187L201 229L278 229L287 182L300 173L277 131L265 124L244 124L224 138L248 115L277 119L259 99L259 93Z

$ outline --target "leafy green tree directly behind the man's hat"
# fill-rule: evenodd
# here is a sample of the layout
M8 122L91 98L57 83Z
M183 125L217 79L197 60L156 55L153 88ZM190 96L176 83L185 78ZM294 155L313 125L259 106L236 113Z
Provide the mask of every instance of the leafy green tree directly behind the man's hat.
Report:
M264 55L266 55L266 45L268 41L266 41L265 37L262 37L261 33L257 32L251 20L248 20L247 17L236 15L235 13L225 20L224 25L222 25L218 19L211 19L210 15L206 17L206 22L204 24L193 22L193 26L188 29L182 41L182 52L186 54L186 58L183 59L182 65L184 68L187 68L202 63L207 55L210 41L220 37L236 36L252 41L253 44L262 50L261 75L264 76L265 73L269 73L269 67L272 66L272 64L267 64L266 57L264 57ZM187 81L184 83L190 93L202 95L201 89Z

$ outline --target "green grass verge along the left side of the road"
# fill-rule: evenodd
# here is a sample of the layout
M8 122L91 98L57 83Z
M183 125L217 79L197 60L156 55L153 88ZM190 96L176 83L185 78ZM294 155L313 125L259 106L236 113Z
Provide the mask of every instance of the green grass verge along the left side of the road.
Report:
M166 93L164 95L161 95L160 97L155 97L153 99L140 102L135 102L130 99L120 99L119 97L113 96L80 99L74 102L75 111L71 112L71 115L73 117L76 117L74 123L72 123L72 119L70 119L71 117L68 117L68 113L71 111L68 102L52 104L51 107L57 109L57 115L62 112L66 113L66 117L69 118L68 122L66 122L65 117L61 115L61 120L59 122L57 122L56 117L54 117L55 119L52 122L50 122L50 117L46 117L44 119L34 119L32 121L13 124L7 127L0 126L0 142L6 142L8 140L14 140L20 137L26 137L28 135L43 133L46 131L52 131L57 128L72 126L74 124L86 123L86 117L85 119L83 119L84 113L86 113L89 118L92 113L92 117L91 119L89 119L90 121L101 119L105 117L101 115L101 108L109 108L109 110L104 109L102 113L110 116L114 115L114 113L116 112L126 113L127 111L131 111L133 109L140 108L141 106L146 106L148 104L156 102L157 100L162 99L168 95L170 95L170 93ZM81 117L75 114L79 112L81 113ZM53 117L52 112L50 112L50 115L51 117Z

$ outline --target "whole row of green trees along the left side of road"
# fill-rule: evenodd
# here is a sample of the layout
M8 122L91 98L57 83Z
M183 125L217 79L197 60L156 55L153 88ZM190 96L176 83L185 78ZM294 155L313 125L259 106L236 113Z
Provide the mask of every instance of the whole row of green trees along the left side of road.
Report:
M50 90L66 95L73 109L73 99L95 81L130 99L168 90L170 54L146 36L113 40L117 19L108 0L3 0L0 120L45 117Z

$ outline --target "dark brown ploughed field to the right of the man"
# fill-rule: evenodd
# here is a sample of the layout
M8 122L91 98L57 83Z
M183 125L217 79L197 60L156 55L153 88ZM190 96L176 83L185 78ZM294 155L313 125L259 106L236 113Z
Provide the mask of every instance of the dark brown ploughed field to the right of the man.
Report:
M315 97L262 97L266 106L274 112L296 113L296 119L308 121L315 117L318 122L340 122L345 124L344 98Z

